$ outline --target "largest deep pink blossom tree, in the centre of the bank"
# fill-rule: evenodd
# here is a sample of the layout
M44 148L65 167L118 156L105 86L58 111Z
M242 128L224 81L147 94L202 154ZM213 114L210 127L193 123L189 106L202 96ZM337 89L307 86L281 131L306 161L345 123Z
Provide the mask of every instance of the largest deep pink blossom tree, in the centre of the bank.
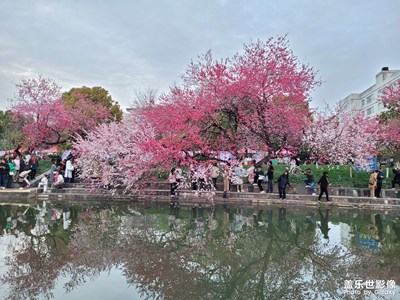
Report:
M160 161L212 158L216 151L298 149L310 122L315 71L298 62L285 37L257 41L243 53L192 62L183 86L145 111L155 129Z

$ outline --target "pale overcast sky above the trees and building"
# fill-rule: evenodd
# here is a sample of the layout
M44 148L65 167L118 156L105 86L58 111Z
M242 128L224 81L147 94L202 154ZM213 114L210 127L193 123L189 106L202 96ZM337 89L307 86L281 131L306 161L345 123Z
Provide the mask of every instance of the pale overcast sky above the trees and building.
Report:
M122 108L135 91L166 92L207 50L287 34L323 81L311 105L334 104L400 69L399 0L1 0L0 109L22 78L64 90L101 86Z

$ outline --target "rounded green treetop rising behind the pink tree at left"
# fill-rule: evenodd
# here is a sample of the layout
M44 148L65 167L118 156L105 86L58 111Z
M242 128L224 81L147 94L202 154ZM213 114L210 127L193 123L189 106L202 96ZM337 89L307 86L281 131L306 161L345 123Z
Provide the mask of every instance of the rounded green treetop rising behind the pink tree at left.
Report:
M121 121L122 110L118 102L112 99L106 89L99 86L92 88L86 86L81 88L72 88L62 95L62 99L67 106L74 105L79 101L78 95L85 99L90 99L94 104L100 104L106 107L116 121Z

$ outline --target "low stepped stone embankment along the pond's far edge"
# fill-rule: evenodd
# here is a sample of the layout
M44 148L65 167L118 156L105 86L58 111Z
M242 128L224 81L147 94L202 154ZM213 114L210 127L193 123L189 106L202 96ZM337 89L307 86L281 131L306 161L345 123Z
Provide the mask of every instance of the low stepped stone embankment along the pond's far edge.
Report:
M189 189L178 190L177 196L170 196L170 186L168 183L155 182L149 184L148 188L127 194L110 194L106 189L90 188L84 183L74 183L66 185L62 189L48 189L43 193L42 189L6 189L0 191L0 201L2 202L90 202L99 203L104 201L123 201L123 202L146 202L169 204L177 202L179 205L279 205L279 206L307 206L307 207L342 207L359 209L395 209L400 210L400 192L395 190L383 190L383 198L368 197L367 189L355 189L344 187L332 187L329 189L330 202L325 201L325 195L318 201L318 196L311 195L309 189L296 187L295 190L288 189L286 199L280 200L279 195L260 194L258 187L245 185L245 192L236 192L232 187L227 198L223 198L222 186L212 195L209 192L196 192ZM275 187L274 187L275 188ZM317 191L318 195L318 191Z

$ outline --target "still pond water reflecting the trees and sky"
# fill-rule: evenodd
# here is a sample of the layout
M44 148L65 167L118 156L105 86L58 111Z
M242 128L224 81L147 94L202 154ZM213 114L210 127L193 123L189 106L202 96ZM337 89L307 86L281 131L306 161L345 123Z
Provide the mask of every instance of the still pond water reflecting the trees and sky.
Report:
M398 212L0 205L1 299L400 299Z

